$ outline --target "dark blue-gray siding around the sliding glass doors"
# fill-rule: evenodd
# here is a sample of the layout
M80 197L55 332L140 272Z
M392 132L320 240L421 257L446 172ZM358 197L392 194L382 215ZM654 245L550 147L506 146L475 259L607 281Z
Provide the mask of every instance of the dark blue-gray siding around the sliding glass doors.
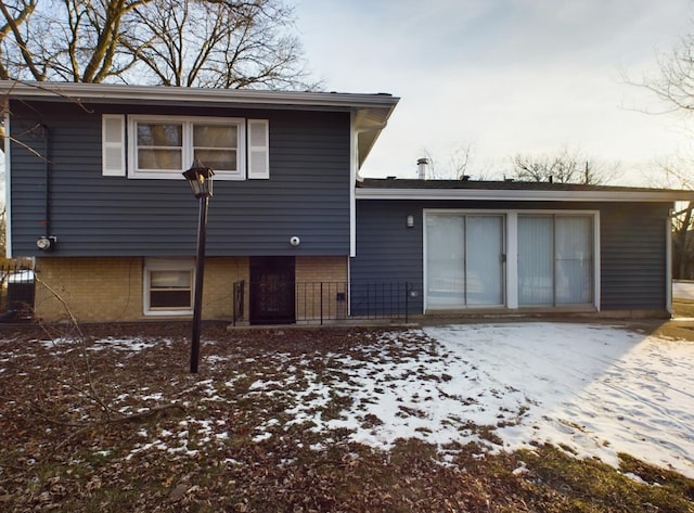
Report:
M354 283L410 282L423 294L424 208L600 210L601 309L666 307L666 222L671 204L518 202L357 202ZM408 215L414 228L406 227ZM421 297L419 311L421 311ZM412 310L416 311L416 310Z

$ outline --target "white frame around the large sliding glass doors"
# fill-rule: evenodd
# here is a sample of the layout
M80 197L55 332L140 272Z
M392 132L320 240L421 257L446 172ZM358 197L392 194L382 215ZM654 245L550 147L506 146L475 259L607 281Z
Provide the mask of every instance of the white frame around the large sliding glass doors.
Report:
M429 310L427 305L428 297L426 291L428 291L428 277L427 277L427 230L426 230L426 217L427 215L435 214L451 214L451 215L502 215L504 216L504 248L505 248L505 265L503 279L505 280L505 308L510 310L518 309L518 216L520 215L552 215L552 216L591 216L593 220L593 304L592 307L595 311L600 311L600 261L601 261L601 248L600 248L600 210L561 210L561 209L465 209L465 208L425 208L423 209L423 277L424 277L424 312ZM571 305L558 305L556 307L542 307L545 309L561 309L571 307ZM581 306L579 305L578 308ZM470 309L465 307L464 309ZM493 307L491 307L493 308ZM531 307L522 307L531 308ZM436 310L433 310L436 311Z

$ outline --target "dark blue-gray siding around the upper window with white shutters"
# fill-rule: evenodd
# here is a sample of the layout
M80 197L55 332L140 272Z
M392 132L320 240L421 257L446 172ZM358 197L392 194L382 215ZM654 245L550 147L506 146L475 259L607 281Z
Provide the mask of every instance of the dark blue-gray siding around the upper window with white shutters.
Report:
M81 108L73 103L14 103L11 111L13 137L40 154L12 146L14 255L40 254L35 243L44 234L57 236L53 256L194 254L198 203L182 177L176 181L101 176L102 113L269 119L270 180L215 182L207 254L349 254L348 113ZM36 125L47 127L49 137L43 129L27 133ZM290 245L292 235L300 236L299 247Z

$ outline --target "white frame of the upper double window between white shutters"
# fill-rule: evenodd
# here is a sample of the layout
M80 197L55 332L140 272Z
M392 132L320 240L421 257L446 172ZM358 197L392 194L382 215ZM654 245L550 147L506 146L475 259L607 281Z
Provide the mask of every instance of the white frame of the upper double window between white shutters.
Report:
M138 123L160 123L182 125L181 169L157 170L138 169ZM240 117L208 116L159 116L151 114L133 114L128 116L128 178L180 180L181 174L193 163L193 126L194 125L234 125L236 127L236 169L215 169L215 180L246 179L246 119ZM204 164L204 163L203 163Z

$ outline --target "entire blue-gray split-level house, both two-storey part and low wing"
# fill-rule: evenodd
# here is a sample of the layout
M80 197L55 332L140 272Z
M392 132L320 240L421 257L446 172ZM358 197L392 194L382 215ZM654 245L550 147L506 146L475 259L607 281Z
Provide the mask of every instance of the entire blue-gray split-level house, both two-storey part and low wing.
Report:
M669 315L670 209L694 192L361 179L389 94L0 89L8 252L36 259L47 321L192 316L194 158L215 169L205 319Z

